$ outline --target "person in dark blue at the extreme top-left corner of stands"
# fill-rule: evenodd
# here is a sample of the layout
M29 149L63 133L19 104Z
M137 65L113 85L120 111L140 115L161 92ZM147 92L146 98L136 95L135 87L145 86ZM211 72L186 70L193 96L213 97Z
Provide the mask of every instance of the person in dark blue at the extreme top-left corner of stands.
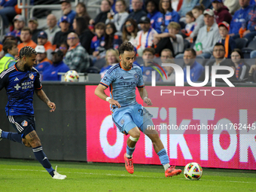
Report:
M17 8L17 0L2 0L0 2L0 15L3 20L4 29L8 28L9 20L12 20L17 14L21 14L20 9Z

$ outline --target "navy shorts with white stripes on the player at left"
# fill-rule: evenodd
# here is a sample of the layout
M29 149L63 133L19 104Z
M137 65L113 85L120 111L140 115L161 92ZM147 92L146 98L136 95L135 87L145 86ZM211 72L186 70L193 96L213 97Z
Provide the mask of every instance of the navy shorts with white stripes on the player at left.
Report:
M22 134L25 138L30 132L35 130L35 117L34 115L14 115L8 116L8 119L17 133Z

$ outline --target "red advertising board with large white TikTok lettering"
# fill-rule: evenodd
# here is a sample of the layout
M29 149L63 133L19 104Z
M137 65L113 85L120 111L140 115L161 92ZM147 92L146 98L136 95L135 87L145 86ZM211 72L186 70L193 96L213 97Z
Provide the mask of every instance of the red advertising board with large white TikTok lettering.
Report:
M108 102L86 87L87 161L123 163L126 138L112 122ZM146 87L155 129L170 163L256 169L254 87ZM108 94L109 95L109 94ZM139 92L137 101L142 104ZM141 134L134 163L160 164L150 139Z

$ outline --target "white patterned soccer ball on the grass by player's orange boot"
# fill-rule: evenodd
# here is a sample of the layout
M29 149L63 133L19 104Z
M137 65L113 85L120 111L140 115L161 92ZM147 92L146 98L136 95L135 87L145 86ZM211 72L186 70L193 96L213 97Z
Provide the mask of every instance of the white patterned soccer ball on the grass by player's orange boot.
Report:
M199 180L203 175L203 169L198 163L188 163L184 168L184 177L188 180Z

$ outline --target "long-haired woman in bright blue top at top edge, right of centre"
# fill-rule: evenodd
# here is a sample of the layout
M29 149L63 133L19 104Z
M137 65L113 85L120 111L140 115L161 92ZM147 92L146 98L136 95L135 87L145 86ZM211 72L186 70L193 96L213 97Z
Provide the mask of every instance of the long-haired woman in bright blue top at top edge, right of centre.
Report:
M157 18L157 28L160 28L161 32L168 32L168 24L172 21L178 23L180 16L177 11L172 9L171 0L160 0L159 11L161 14Z

